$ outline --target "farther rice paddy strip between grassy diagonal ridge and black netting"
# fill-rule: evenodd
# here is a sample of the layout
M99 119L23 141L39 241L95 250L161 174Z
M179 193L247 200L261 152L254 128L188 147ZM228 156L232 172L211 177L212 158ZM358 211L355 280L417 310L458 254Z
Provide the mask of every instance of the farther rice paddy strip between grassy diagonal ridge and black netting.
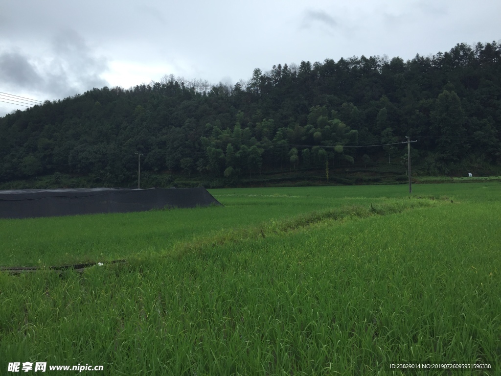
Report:
M357 187L358 188L358 187ZM149 257L179 241L211 232L280 221L299 214L345 205L376 204L378 194L405 196L405 190L309 187L211 191L224 208L176 209L127 214L0 219L0 266L50 266ZM402 194L403 192L403 194ZM370 192L367 190L369 196Z

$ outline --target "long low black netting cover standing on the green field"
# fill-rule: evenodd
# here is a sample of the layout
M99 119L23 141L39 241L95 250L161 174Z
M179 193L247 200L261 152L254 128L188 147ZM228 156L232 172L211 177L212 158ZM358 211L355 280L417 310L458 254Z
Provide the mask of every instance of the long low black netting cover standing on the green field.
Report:
M204 187L0 190L0 218L33 218L221 205Z

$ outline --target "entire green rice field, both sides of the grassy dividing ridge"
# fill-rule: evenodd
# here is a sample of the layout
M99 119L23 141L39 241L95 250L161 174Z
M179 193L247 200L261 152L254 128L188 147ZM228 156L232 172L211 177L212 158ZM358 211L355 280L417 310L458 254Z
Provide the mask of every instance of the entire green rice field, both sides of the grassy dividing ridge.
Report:
M0 375L501 374L498 181L210 193L0 220Z

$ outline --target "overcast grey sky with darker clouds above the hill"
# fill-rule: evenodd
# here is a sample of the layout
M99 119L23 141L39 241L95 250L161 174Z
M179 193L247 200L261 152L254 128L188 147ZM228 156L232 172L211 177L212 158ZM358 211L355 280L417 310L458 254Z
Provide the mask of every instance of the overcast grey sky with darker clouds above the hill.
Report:
M165 74L234 85L279 63L407 60L499 41L499 15L499 0L2 0L0 92L44 101ZM25 108L0 102L0 116Z

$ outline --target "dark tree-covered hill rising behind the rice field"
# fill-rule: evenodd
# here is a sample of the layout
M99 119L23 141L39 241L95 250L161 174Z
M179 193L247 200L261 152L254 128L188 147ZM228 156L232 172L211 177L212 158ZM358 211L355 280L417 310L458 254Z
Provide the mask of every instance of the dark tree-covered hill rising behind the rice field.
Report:
M292 65L292 64L291 64ZM249 72L250 73L250 72ZM142 171L236 181L264 171L501 162L501 45L404 62L364 56L255 69L245 84L93 89L0 118L0 182L55 172L124 185ZM333 168L335 168L333 170ZM324 172L325 174L325 172Z

